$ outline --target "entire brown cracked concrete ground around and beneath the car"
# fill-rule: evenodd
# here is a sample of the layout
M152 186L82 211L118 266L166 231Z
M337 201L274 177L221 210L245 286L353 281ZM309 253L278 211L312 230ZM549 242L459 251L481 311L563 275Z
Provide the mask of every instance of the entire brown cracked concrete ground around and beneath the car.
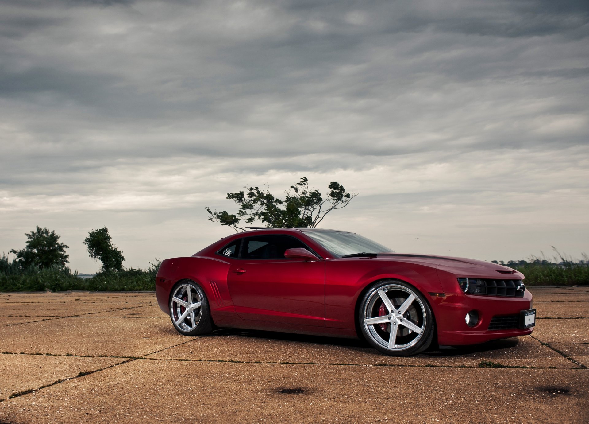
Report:
M409 358L184 337L153 293L0 293L0 422L589 422L589 287L531 291L531 336Z

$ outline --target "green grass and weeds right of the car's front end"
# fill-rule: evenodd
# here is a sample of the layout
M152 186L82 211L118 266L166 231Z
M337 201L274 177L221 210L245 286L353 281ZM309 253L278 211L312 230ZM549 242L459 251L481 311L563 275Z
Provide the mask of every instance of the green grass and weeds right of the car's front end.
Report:
M525 285L589 285L589 257L583 254L581 261L561 254L554 246L556 256L531 257L529 261L492 261L517 269L525 275Z

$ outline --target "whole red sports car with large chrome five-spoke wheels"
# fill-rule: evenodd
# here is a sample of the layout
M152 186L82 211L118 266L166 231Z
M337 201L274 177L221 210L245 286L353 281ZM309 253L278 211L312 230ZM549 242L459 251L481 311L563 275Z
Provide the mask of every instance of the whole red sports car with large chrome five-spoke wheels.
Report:
M166 259L155 289L181 334L214 327L364 337L407 356L534 329L524 275L474 259L395 253L317 228L256 229Z

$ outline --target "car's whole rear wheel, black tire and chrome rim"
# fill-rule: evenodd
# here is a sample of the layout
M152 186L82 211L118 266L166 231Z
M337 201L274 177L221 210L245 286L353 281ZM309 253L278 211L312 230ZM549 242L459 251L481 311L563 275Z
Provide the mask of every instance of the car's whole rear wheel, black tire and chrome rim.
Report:
M209 302L200 285L182 281L170 297L170 318L174 328L184 336L210 333L213 329Z

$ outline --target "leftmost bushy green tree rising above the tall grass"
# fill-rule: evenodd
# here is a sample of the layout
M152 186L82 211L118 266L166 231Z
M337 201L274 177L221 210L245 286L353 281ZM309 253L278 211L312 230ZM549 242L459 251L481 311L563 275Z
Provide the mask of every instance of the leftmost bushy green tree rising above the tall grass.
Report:
M25 235L28 238L27 246L21 250L11 249L10 251L16 254L16 262L22 269L29 267L65 269L65 264L69 262L68 257L70 257L65 254L65 249L70 246L59 243L59 234L37 226L35 231Z

